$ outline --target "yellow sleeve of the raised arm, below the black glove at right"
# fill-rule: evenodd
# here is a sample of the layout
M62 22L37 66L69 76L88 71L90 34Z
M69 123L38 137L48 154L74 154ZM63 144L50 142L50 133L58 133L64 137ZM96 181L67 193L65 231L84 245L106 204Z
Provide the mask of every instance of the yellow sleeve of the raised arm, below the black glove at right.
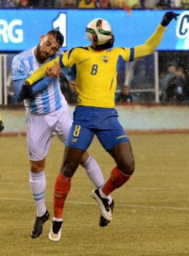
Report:
M134 47L133 59L138 59L140 57L152 54L159 46L165 33L165 29L166 27L160 24L153 35L143 45ZM131 52L132 49L133 48L131 48Z

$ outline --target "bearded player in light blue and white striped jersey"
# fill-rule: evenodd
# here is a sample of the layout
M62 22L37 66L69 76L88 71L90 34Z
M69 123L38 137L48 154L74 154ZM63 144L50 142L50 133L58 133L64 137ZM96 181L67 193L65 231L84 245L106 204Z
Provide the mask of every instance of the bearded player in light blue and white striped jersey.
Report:
M45 160L51 140L53 135L57 135L60 141L66 141L72 124L72 115L60 90L58 64L49 68L46 76L34 84L29 92L22 90L22 85L25 79L40 66L64 54L60 50L63 42L64 37L58 30L50 30L46 35L40 37L40 43L36 47L16 55L12 63L12 79L16 96L25 98L26 139L30 160L29 182L37 208L37 217L31 231L31 238L36 238L42 233L43 224L49 219L49 212L45 206ZM63 68L62 72L67 74L68 79L75 79L69 68ZM28 94L32 95L32 99L27 99ZM95 159L85 152L80 163L93 184L97 188L102 187L104 179ZM109 203L111 206L114 204L111 196ZM54 210L56 210L56 204L54 204ZM62 219L59 218L58 222L61 224ZM99 224L106 226L108 222L101 216Z

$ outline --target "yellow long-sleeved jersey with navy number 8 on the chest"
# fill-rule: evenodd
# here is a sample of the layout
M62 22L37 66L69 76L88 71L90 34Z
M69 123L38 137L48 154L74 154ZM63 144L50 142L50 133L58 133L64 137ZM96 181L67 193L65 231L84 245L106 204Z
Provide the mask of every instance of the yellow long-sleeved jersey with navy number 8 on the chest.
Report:
M160 44L165 29L166 27L159 25L143 45L133 48L116 47L102 51L97 51L92 46L72 48L40 67L27 81L30 85L35 83L45 76L47 67L59 62L60 67L66 66L75 72L78 105L113 108L120 65L152 54Z

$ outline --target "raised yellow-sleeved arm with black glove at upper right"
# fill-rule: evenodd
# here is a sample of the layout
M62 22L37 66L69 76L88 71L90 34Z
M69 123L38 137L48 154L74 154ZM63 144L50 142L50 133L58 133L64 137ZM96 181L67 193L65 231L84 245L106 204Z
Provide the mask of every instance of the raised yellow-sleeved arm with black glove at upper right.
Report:
M176 20L178 15L180 14L166 12L165 15L163 16L161 24L155 30L153 35L143 45L139 45L131 49L133 51L133 59L137 59L152 54L155 51L155 49L159 46L165 33L166 26L169 25L172 19Z

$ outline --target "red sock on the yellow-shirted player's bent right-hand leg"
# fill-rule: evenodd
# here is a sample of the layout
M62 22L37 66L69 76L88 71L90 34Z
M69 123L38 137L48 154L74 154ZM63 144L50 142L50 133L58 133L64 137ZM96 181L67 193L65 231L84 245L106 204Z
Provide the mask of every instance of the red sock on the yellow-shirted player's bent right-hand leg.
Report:
M130 177L131 175L123 174L116 166L111 172L111 177L102 188L102 192L108 196L114 189L121 187L127 182Z

